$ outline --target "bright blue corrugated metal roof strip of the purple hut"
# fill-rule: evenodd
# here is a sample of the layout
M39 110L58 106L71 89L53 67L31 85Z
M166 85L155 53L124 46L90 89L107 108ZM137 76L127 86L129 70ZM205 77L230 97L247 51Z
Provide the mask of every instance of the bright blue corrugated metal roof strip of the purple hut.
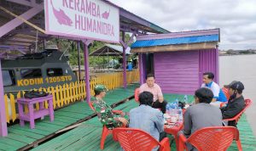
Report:
M187 36L167 39L136 41L131 45L131 48L146 48L153 46L178 45L199 42L218 42L218 35L216 34L207 36Z

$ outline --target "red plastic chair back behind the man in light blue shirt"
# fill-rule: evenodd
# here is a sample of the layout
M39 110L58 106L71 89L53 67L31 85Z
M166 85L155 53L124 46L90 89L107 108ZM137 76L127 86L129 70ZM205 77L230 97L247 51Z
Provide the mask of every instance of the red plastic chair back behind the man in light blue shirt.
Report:
M119 141L125 151L151 151L160 146L160 151L171 151L169 138L165 137L160 143L147 132L133 128L115 128L113 137Z

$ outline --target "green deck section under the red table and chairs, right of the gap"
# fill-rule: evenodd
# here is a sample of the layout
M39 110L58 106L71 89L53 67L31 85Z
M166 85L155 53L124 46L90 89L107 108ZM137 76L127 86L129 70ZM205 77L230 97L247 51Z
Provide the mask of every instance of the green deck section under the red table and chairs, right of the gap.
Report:
M170 95L166 94L165 98L167 100L175 100L176 98L182 98L182 95ZM192 96L189 96L192 99ZM137 103L133 100L120 104L115 109L122 109L124 111L129 111L132 108L137 107ZM242 143L242 148L245 151L256 150L256 139L253 136L253 131L248 125L246 116L243 115L239 121L238 128L240 131L240 138ZM37 148L32 150L101 150L100 149L100 139L102 134L102 125L97 120L97 117L84 121L82 126L79 126L72 131L56 137L55 139L44 143ZM171 136L168 136L171 137ZM120 150L119 143L113 141L112 136L108 136L105 142L106 151ZM175 143L172 143L172 150L176 150ZM229 151L237 150L236 143L233 143Z

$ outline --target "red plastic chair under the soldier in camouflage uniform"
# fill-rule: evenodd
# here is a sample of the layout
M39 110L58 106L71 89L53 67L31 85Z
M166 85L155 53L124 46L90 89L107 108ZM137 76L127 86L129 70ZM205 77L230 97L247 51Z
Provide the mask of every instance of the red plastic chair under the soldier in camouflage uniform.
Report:
M94 109L94 107L92 105L92 102L89 102L88 104L90 106L90 109L95 111L95 109ZM115 113L115 114L122 114L123 112L121 110L113 110L113 113ZM107 126L104 125L102 127L101 149L104 149L104 143L105 143L106 137L108 137L108 135L112 134L112 133L113 133L113 130L108 129Z

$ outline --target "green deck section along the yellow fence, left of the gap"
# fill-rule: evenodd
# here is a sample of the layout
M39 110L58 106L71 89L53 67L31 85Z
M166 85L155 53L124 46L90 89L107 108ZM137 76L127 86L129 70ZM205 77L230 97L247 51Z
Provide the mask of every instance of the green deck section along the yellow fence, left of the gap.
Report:
M130 85L125 90L117 88L114 91L108 92L106 100L108 104L117 103L120 100L131 97L134 94L134 89L138 85ZM0 137L0 150L17 150L24 148L27 145L44 140L47 137L52 137L56 131L72 125L84 118L94 115L86 102L73 103L63 109L55 110L55 120L49 121L49 116L45 116L44 120L36 120L36 128L30 129L28 122L26 126L20 125L9 126L8 137Z

